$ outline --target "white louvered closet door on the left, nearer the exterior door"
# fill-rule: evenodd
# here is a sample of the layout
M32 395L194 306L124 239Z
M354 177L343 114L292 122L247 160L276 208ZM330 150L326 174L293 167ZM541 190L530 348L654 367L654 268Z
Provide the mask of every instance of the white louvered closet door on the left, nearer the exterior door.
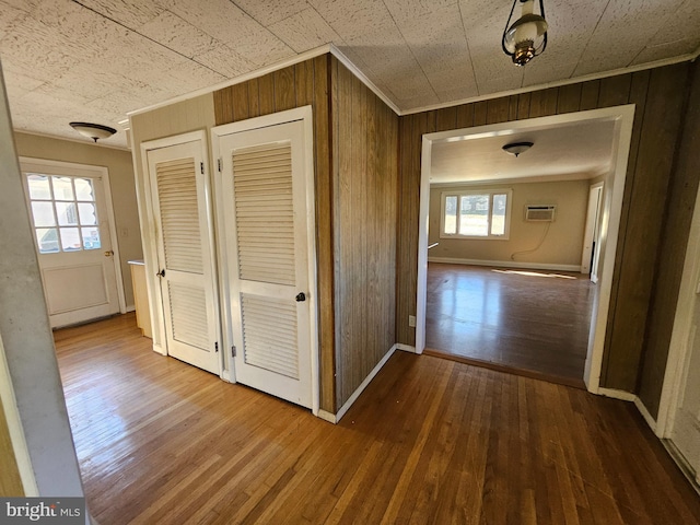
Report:
M148 152L167 353L219 374L211 210L202 142Z

